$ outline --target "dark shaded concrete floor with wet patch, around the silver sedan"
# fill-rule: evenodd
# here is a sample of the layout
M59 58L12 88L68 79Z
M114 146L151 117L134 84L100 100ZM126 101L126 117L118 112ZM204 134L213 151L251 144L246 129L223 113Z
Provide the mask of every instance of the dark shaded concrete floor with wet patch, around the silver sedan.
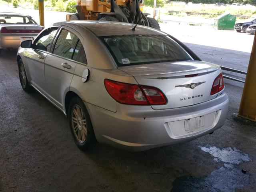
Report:
M247 68L248 52L186 44L206 61ZM224 80L230 97L228 118L212 135L145 152L101 145L86 153L75 146L62 112L38 92L22 90L17 70L16 52L4 51L0 57L1 192L256 191L256 126L234 120L242 83Z

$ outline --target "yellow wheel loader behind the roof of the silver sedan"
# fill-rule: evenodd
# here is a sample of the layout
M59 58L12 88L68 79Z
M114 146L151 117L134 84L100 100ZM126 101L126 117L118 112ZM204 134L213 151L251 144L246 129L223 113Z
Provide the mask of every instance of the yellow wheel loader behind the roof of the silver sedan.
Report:
M160 29L154 18L142 13L143 0L77 0L77 13L67 20L99 20L127 22Z

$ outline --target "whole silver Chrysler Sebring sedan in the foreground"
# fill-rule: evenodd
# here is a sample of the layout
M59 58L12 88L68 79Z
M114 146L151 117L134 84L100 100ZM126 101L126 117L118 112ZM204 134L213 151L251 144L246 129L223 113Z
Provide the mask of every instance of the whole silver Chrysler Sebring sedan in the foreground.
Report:
M220 128L222 72L174 37L121 22L59 22L17 54L20 83L69 119L76 145L147 150Z

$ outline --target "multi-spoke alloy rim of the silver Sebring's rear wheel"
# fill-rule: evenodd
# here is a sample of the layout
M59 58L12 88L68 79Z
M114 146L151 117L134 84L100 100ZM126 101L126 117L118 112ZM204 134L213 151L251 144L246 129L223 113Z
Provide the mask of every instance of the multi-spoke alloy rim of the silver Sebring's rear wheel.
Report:
M86 118L79 105L75 104L72 107L71 118L72 130L76 140L80 143L84 143L87 136Z

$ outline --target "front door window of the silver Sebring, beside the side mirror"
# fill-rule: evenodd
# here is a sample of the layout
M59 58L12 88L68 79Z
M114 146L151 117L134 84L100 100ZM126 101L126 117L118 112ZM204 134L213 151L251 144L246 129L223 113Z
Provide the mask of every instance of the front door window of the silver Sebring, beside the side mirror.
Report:
M57 32L57 29L58 28L48 28L47 30L44 30L44 32L42 32L40 36L38 36L38 40L35 40L35 48L50 52L50 45Z

